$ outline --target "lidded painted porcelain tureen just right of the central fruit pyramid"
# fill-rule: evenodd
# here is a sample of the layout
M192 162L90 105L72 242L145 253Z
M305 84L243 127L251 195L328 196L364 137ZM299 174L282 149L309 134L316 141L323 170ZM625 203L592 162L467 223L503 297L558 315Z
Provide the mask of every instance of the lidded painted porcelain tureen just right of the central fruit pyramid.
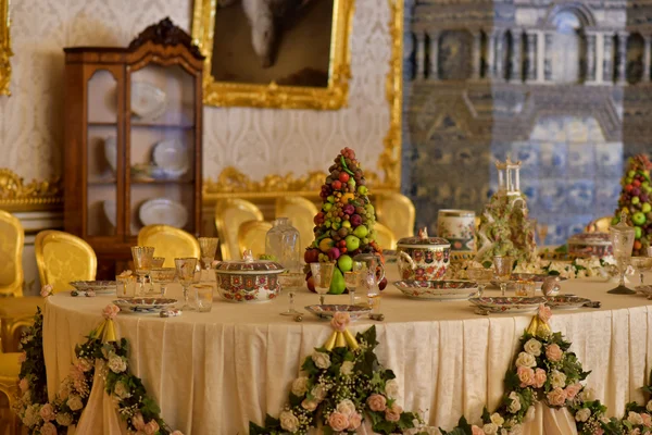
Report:
M398 243L401 278L441 281L450 264L451 244L441 237L428 237L427 228L416 237L405 237Z

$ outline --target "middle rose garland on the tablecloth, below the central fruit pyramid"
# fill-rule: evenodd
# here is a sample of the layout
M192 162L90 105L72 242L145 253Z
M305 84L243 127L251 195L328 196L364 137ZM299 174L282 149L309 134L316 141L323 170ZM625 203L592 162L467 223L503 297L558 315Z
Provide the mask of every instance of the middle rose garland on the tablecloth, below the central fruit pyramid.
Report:
M353 434L365 417L379 434L428 434L421 417L398 403L399 385L391 370L380 365L374 349L376 327L355 338L347 326L348 313L335 314L335 328L326 344L305 358L302 374L292 382L289 402L278 419L267 415L265 425L249 423L251 435L306 434L323 426L324 434Z

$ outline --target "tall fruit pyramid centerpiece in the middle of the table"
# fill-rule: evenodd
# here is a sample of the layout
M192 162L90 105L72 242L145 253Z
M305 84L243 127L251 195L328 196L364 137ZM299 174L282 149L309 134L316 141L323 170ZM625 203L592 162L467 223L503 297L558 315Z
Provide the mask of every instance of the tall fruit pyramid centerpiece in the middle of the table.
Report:
M315 240L306 248L308 288L314 291L310 263L336 261L331 295L346 290L344 272L351 271L360 253L380 253L376 244L376 214L355 152L344 148L335 158L319 197L322 210L315 215ZM380 286L383 288L383 286Z

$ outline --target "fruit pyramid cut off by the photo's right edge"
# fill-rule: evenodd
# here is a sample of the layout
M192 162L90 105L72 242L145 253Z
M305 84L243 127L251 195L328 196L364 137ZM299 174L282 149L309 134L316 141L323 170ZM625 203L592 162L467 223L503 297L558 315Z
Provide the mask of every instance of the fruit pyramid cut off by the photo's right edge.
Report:
M652 243L652 186L650 182L652 163L643 154L629 159L627 173L623 177L623 191L618 199L618 210L612 223L620 221L620 212L629 215L629 223L636 231L632 256L645 256Z

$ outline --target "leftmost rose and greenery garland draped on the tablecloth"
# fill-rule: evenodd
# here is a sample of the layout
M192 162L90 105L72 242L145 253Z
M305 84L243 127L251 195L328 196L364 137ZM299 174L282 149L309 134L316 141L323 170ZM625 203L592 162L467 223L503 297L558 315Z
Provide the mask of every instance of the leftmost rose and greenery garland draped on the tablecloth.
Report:
M51 287L46 286L41 290L43 297L51 294ZM83 345L76 346L77 361L61 383L54 399L48 401L42 348L43 316L40 309L37 310L34 325L21 339L21 395L14 406L14 412L30 434L65 434L68 426L76 425L88 402L96 371L99 371L105 381L104 390L113 399L121 418L127 422L129 433L183 435L167 426L160 417L159 406L147 395L142 381L129 372L127 340L117 340L115 337L113 319L118 312L120 308L113 303L104 308L104 322L90 332Z

